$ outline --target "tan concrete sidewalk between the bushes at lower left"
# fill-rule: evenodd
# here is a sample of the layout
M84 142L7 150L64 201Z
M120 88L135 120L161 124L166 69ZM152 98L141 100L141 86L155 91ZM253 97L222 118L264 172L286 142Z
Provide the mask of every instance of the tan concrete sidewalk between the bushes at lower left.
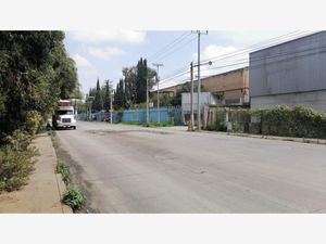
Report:
M55 174L57 155L49 136L38 134L33 145L39 152L35 156L35 171L20 191L0 194L0 213L73 213L61 203L65 185L61 175Z

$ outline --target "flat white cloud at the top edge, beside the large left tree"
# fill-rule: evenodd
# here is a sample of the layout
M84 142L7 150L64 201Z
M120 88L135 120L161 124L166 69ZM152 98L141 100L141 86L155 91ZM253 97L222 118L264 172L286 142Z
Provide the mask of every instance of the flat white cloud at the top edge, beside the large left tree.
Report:
M137 31L137 30L71 31L70 35L75 40L90 42L90 43L105 42L105 41L142 43L146 38L146 31Z

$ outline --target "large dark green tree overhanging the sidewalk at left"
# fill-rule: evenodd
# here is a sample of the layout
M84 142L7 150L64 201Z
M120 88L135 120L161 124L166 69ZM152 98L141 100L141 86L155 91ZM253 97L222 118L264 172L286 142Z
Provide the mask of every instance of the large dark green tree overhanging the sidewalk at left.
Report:
M0 145L30 114L47 118L78 89L63 39L63 31L0 31Z

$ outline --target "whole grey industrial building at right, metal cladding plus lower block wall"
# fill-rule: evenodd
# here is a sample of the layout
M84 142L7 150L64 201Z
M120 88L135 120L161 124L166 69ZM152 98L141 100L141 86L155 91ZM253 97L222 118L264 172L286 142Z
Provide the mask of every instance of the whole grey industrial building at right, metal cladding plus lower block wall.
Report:
M308 105L326 112L326 31L250 53L251 107Z

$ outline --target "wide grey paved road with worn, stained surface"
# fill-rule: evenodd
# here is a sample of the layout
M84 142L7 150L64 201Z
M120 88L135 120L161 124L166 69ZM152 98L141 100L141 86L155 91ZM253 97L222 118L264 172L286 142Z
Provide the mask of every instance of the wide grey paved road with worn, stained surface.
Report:
M97 213L326 213L326 146L78 121L58 131Z

